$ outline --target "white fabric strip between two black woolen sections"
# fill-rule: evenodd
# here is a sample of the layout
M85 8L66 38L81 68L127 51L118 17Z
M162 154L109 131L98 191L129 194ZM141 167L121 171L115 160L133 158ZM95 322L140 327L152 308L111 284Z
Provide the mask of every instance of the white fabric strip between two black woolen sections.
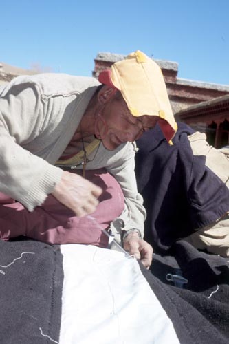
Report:
M63 304L59 344L178 344L173 323L134 258L61 245Z

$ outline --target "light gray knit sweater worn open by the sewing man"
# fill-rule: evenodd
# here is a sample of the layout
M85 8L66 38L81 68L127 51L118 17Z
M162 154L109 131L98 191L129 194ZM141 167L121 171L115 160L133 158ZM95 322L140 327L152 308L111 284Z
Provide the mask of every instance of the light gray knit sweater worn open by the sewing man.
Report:
M0 89L0 191L29 211L44 202L63 173L54 164L98 85L95 78L38 74L19 76ZM113 222L117 233L120 227L143 233L145 211L135 181L134 155L135 144L130 142L115 151L100 144L96 159L87 164L87 169L105 167L122 187L126 209L122 221Z

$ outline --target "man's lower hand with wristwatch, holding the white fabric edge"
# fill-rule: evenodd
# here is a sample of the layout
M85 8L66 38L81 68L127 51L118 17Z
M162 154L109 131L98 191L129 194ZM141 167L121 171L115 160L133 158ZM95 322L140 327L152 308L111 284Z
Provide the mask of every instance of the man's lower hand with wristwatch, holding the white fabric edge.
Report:
M140 239L138 233L129 233L124 239L123 248L130 255L134 255L136 259L140 259L142 264L149 269L153 259L153 248L148 242Z

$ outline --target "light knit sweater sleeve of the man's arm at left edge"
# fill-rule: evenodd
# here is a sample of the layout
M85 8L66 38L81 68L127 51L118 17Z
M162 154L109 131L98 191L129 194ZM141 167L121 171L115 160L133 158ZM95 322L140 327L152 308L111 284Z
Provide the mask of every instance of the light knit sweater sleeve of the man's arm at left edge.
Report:
M35 83L9 84L0 94L0 191L28 211L41 205L63 171L36 155L36 142L45 111ZM31 144L31 147L36 147Z

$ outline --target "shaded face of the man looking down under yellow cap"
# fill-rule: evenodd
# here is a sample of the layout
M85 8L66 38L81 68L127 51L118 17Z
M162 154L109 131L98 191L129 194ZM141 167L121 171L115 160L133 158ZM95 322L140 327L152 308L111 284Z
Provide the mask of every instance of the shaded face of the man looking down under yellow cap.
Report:
M120 144L138 140L144 131L152 129L157 124L157 116L132 116L127 104L120 97L113 97L105 105L101 114L107 128L100 122L102 144L106 149L113 151ZM106 130L106 132L105 132Z

